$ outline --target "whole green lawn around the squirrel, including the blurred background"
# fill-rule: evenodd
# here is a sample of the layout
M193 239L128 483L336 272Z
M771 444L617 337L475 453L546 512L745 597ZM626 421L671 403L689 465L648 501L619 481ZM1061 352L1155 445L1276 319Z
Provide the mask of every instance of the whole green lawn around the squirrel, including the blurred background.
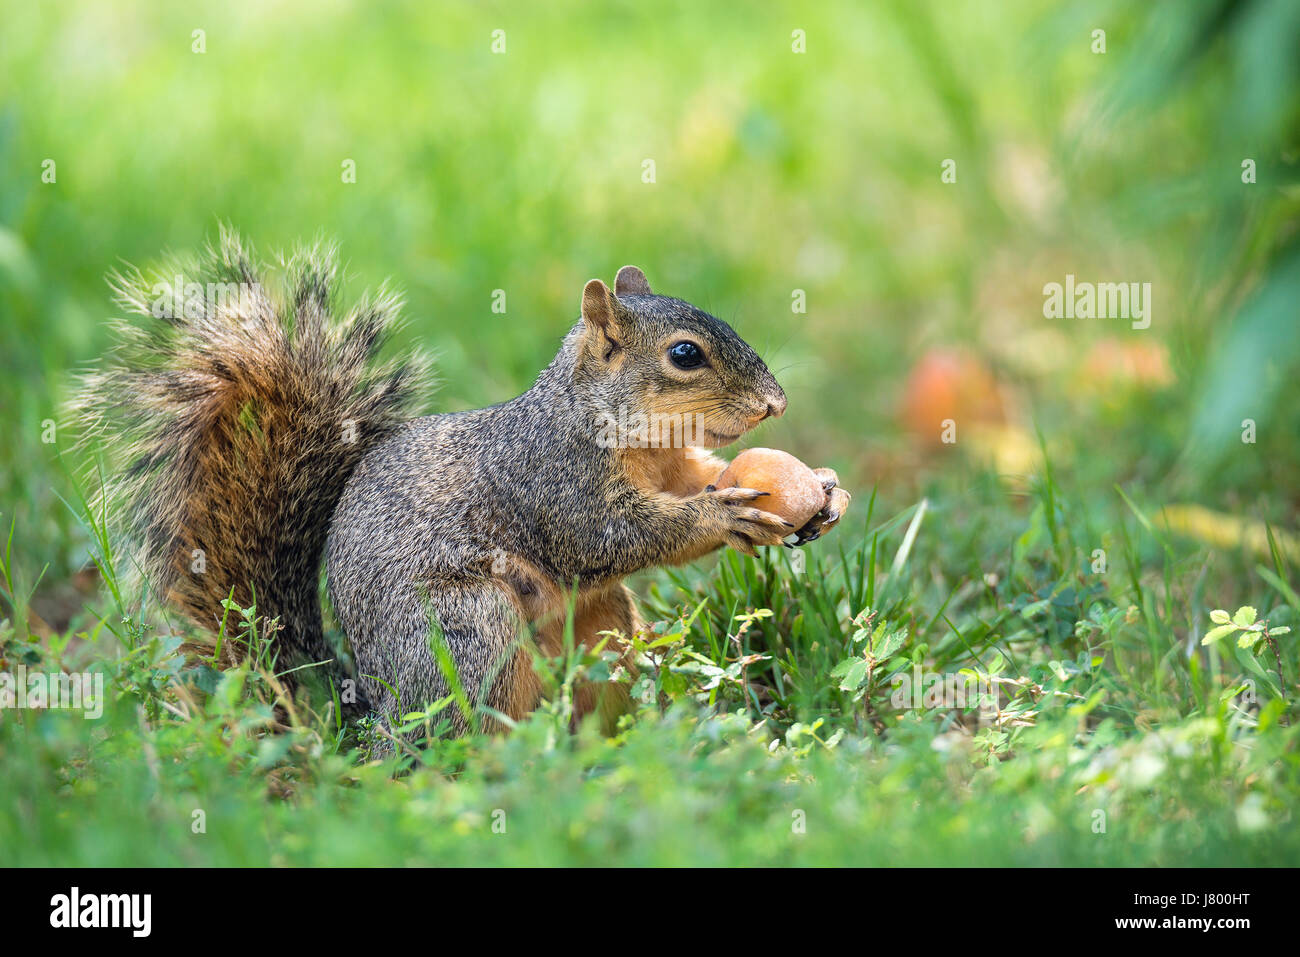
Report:
M109 701L0 711L0 863L1300 861L1296 633L1280 677L1200 644L1216 609L1300 615L1300 23L1232 9L5 4L0 671L92 668ZM759 348L790 404L753 443L836 468L853 510L802 571L638 576L662 644L612 740L564 703L599 661L546 664L552 701L500 739L441 737L456 702L408 702L432 740L389 757L324 700L268 733L265 649L187 661L124 592L81 495L103 450L62 411L109 342L104 274L218 221L264 254L341 241L348 294L393 278L430 411L526 387L582 283L637 263ZM1067 273L1150 281L1152 328L1045 319ZM1167 376L1112 377L1115 343ZM909 428L909 372L950 348L1009 437ZM914 666L996 676L1006 714L898 706Z

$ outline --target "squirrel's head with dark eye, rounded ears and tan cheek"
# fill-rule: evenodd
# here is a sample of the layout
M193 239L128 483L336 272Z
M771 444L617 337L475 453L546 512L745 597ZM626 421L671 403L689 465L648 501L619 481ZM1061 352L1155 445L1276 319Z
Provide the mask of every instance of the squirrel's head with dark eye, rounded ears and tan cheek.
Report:
M582 290L575 385L602 412L646 416L653 434L718 449L785 411L785 393L758 354L720 319L655 295L634 265L611 291ZM638 426L633 426L638 428Z

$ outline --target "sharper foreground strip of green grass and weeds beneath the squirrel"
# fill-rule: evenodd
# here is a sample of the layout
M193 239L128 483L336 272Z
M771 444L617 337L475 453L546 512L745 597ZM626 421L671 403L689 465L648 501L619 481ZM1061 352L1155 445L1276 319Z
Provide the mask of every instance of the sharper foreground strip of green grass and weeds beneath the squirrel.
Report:
M1039 503L1061 508L1069 541L1082 516L1065 490L1048 493ZM108 615L134 651L83 654L108 674L105 715L0 723L5 863L1296 859L1300 709L1277 696L1269 661L1188 645L1209 606L1182 590L1180 570L1202 557L1164 551L1135 519L1131 551L1092 575L1058 560L1035 510L1015 568L972 588L970 563L994 559L965 554L953 567L942 546L962 540L968 499L931 502L901 564L915 510L884 518L862 505L810 549L802 573L790 553L766 550L728 554L707 575L656 576L659 648L636 715L608 740L590 724L572 735L554 693L495 739L446 740L432 709L410 727L433 740L368 759L365 735L341 737L320 707L266 733L257 668L213 674L178 658L161 629ZM1164 554L1167 580L1127 566L1144 551ZM1291 580L1284 567L1279 576ZM1274 627L1295 620L1275 590L1253 597ZM876 645L872 676L845 689L832 672L866 650L855 632L868 607L897 636ZM760 609L771 615L753 616ZM0 646L10 662L49 661L12 628ZM978 705L900 706L890 677L914 663L1027 681L1006 685L1001 720ZM559 689L592 664L542 667ZM1283 645L1292 685L1296 666ZM1257 701L1230 693L1245 677Z

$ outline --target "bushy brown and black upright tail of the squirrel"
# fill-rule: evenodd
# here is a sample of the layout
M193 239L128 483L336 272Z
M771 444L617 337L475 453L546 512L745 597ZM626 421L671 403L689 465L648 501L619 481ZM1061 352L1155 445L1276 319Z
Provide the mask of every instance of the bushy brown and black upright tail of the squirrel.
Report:
M274 287L237 235L194 263L110 277L143 322L118 325L84 380L86 438L117 445L105 490L156 594L208 628L231 589L280 619L277 670L333 658L320 563L348 475L396 428L422 380L376 355L400 302L381 293L334 317L337 254L295 254ZM231 642L233 644L233 642Z

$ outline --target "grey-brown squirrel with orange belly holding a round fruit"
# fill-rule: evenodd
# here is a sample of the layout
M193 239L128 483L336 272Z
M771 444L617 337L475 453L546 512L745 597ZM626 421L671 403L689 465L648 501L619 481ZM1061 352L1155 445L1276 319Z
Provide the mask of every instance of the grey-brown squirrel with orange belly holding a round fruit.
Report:
M270 290L222 230L196 268L207 281L183 289L113 277L125 308L162 321L120 326L81 391L90 434L121 437L130 458L107 494L155 590L207 628L231 589L256 602L278 619L282 670L335 658L324 557L359 675L352 713L448 693L437 623L469 698L519 719L541 694L523 625L558 654L576 601L576 641L630 636L642 623L627 575L807 541L848 507L829 469L826 507L801 529L755 508L760 489L714 488L727 463L708 449L780 416L785 394L729 325L655 295L636 267L612 291L586 283L581 319L523 395L422 417L422 363L377 360L399 300L335 319L333 248L296 254ZM667 423L659 441L647 421ZM623 702L603 692L618 688L589 685L578 710L608 722Z

